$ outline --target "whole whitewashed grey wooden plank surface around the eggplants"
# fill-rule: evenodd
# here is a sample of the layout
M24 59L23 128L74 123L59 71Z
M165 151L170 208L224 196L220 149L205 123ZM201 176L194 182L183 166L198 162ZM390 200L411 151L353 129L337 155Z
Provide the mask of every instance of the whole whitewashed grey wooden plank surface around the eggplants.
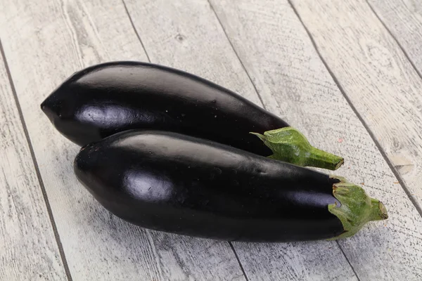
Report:
M422 280L422 2L0 0L0 280ZM345 157L388 208L337 242L240 243L137 228L72 174L39 104L110 60L241 93Z

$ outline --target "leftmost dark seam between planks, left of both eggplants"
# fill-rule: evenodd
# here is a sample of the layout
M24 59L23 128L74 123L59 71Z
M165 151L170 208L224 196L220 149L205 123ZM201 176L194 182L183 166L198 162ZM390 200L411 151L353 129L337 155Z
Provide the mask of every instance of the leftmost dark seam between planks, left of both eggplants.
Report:
M66 260L65 252L63 251L63 244L60 241L60 235L58 234L56 222L54 221L54 218L53 218L53 213L51 211L49 199L47 197L47 193L46 193L46 190L44 188L44 182L42 181L41 174L39 172L38 163L37 163L37 160L35 159L34 149L32 148L32 143L31 143L31 140L30 140L30 135L29 135L28 130L27 130L27 126L25 124L25 120L23 119L22 109L20 107L18 95L16 94L15 84L13 83L13 78L12 78L10 69L8 67L6 54L4 53L3 44L1 44L1 39L0 39L0 54L1 54L1 57L3 58L3 60L4 60L4 68L6 70L8 81L9 81L9 84L11 86L11 91L13 93L13 98L15 100L16 108L17 108L18 113L19 113L20 123L22 124L23 132L25 133L25 138L26 138L27 145L28 145L28 148L30 150L30 154L31 154L31 158L32 158L32 164L34 166L35 174L37 174L39 187L41 188L42 197L44 198L44 203L46 204L47 214L49 214L51 228L53 228L53 234L54 234L54 237L56 238L56 244L57 244L57 247L58 247L58 251L60 253L60 259L63 263L63 267L65 269L65 273L66 273L66 277L68 278L68 281L72 281L72 275L70 274L68 261Z

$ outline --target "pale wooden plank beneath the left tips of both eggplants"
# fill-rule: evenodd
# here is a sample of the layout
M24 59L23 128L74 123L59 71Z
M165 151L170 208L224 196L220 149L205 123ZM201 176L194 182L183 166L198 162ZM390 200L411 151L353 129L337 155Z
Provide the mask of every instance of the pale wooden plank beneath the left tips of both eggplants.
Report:
M0 1L0 37L73 280L245 280L225 242L144 230L105 211L73 174L79 148L39 108L82 67L146 60L121 1Z

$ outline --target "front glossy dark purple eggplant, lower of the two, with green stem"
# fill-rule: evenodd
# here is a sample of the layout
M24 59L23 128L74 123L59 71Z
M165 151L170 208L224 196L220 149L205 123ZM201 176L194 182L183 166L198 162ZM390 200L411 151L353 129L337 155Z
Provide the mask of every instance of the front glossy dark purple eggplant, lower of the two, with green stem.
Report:
M344 178L169 131L130 130L85 145L74 171L115 216L179 235L338 239L388 217Z

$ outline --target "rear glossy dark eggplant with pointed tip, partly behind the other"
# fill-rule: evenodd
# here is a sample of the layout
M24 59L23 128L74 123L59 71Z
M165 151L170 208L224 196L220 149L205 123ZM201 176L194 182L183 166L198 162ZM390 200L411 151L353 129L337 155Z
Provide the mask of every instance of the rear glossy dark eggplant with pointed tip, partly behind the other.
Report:
M338 169L343 158L309 144L276 115L217 84L162 65L110 62L75 72L41 103L70 141L129 129L172 131L300 166Z

